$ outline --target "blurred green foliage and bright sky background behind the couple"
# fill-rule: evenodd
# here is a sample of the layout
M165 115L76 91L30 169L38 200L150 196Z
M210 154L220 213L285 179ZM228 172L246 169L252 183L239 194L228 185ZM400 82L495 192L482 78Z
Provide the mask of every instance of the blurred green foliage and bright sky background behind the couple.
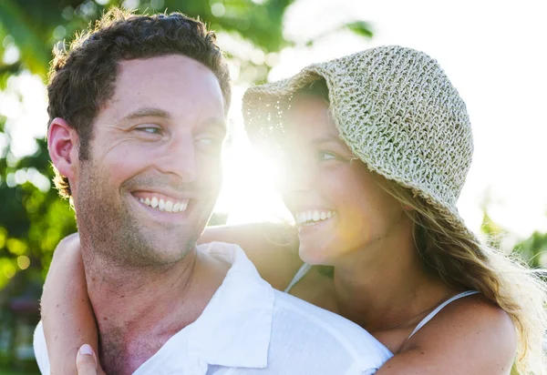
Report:
M37 372L32 333L57 242L76 230L52 188L46 150L51 49L111 5L181 11L216 30L234 82L225 182L211 224L290 219L273 167L244 135L246 87L307 64L397 44L439 60L466 100L475 137L459 200L475 232L533 268L547 265L547 6L368 0L0 1L0 373Z

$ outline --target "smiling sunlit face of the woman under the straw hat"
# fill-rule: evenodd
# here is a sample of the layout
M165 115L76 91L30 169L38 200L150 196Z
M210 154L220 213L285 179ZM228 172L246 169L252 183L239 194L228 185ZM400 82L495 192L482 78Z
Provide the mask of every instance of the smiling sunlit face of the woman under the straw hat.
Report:
M281 191L305 262L335 265L356 250L381 248L407 218L377 184L381 177L340 140L325 100L295 96L283 149Z

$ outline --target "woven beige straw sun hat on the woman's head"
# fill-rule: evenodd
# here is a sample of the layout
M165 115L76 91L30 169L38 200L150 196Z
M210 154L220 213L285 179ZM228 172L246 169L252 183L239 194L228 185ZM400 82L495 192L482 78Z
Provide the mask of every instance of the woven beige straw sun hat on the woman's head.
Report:
M340 138L353 154L475 238L456 208L473 153L470 120L437 61L410 48L381 46L252 87L243 96L243 117L253 141L283 137L294 93L321 78Z

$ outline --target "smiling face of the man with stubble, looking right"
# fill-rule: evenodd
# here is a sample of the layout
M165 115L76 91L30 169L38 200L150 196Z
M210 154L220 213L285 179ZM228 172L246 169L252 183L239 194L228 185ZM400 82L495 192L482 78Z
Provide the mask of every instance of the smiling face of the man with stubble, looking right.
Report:
M119 63L73 181L82 236L121 264L160 265L194 246L222 182L216 76L186 56Z

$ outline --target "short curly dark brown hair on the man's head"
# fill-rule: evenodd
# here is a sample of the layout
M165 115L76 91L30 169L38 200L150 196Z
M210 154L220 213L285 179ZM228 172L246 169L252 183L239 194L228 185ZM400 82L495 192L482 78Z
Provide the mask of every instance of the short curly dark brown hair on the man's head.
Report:
M219 80L228 111L230 76L216 36L189 16L133 15L111 8L88 31L77 35L67 51L54 49L47 85L49 123L61 117L76 129L80 160L89 157L99 108L114 94L119 61L166 55L188 56L209 67ZM68 178L54 169L60 196L71 198Z

